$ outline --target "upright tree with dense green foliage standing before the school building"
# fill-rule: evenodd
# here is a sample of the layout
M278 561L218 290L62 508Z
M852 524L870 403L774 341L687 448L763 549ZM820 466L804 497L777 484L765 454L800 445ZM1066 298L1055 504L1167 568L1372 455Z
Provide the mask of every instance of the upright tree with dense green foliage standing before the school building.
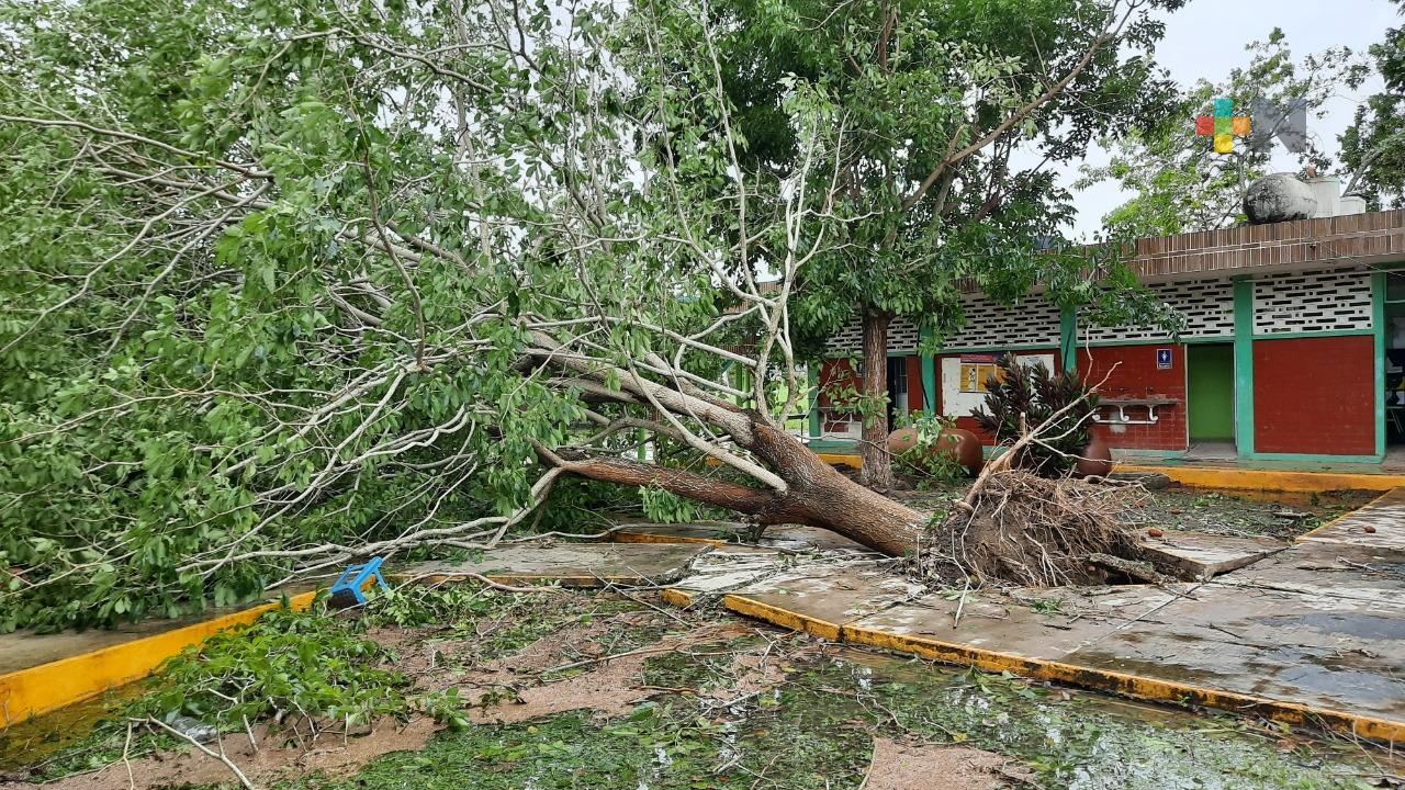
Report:
M1166 112L1149 10L1180 0L715 0L725 129L742 188L790 177L801 143L787 122L795 84L846 121L836 243L798 277L794 320L809 350L863 322L863 470L891 485L887 336L906 316L940 337L961 320L960 281L1014 301L1037 283L1078 283L1040 238L1069 218L1051 164L1103 135ZM735 266L757 270L745 254ZM1085 271L1086 274L1086 271Z

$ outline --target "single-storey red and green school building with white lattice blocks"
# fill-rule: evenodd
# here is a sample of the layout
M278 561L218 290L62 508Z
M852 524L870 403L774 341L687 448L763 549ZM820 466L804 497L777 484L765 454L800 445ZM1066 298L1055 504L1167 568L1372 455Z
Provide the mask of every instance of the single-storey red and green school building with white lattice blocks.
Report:
M892 408L974 430L988 365L1014 353L1093 384L1107 375L1094 430L1120 455L1381 462L1405 451L1405 211L1142 239L1132 267L1186 316L1179 337L1093 326L1038 294L1013 306L968 294L965 326L934 356L917 354L913 322L892 323ZM860 342L856 319L811 377L816 448L858 439L825 385L853 375Z

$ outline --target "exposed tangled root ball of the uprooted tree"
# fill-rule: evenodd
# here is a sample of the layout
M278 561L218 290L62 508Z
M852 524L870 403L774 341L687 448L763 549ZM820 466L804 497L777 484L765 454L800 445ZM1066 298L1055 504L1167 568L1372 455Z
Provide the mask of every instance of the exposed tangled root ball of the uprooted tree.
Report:
M1094 555L1139 559L1117 520L1123 495L1123 486L995 470L927 530L912 564L955 586L1103 583Z

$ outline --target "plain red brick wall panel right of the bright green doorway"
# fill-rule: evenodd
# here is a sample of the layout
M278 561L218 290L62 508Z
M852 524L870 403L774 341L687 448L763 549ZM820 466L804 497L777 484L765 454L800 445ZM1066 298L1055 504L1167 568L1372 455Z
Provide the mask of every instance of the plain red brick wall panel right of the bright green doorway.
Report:
M1253 448L1374 455L1374 339L1255 340Z

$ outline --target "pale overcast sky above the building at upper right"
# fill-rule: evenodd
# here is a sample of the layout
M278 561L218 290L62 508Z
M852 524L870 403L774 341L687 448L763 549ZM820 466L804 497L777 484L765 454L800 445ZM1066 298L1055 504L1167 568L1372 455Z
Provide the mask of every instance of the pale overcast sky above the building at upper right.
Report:
M1397 8L1390 0L1191 0L1166 17L1166 38L1156 51L1156 59L1183 84L1193 84L1201 77L1220 82L1235 66L1248 65L1249 53L1243 46L1266 39L1274 27L1283 28L1294 59L1301 60L1304 55L1329 46L1364 51L1381 39L1385 28L1405 24ZM1378 84L1363 86L1360 94L1343 86L1328 105L1325 118L1308 118L1308 134L1333 159L1336 136L1352 122L1356 105ZM1193 122L1186 118L1186 124ZM1274 152L1279 169L1297 169L1280 143L1274 143ZM1089 162L1103 163L1106 153L1093 152ZM1076 174L1076 164L1066 169L1065 183L1072 184ZM1110 184L1085 190L1075 198L1079 209L1075 238L1087 238L1102 225L1104 214L1127 200Z

